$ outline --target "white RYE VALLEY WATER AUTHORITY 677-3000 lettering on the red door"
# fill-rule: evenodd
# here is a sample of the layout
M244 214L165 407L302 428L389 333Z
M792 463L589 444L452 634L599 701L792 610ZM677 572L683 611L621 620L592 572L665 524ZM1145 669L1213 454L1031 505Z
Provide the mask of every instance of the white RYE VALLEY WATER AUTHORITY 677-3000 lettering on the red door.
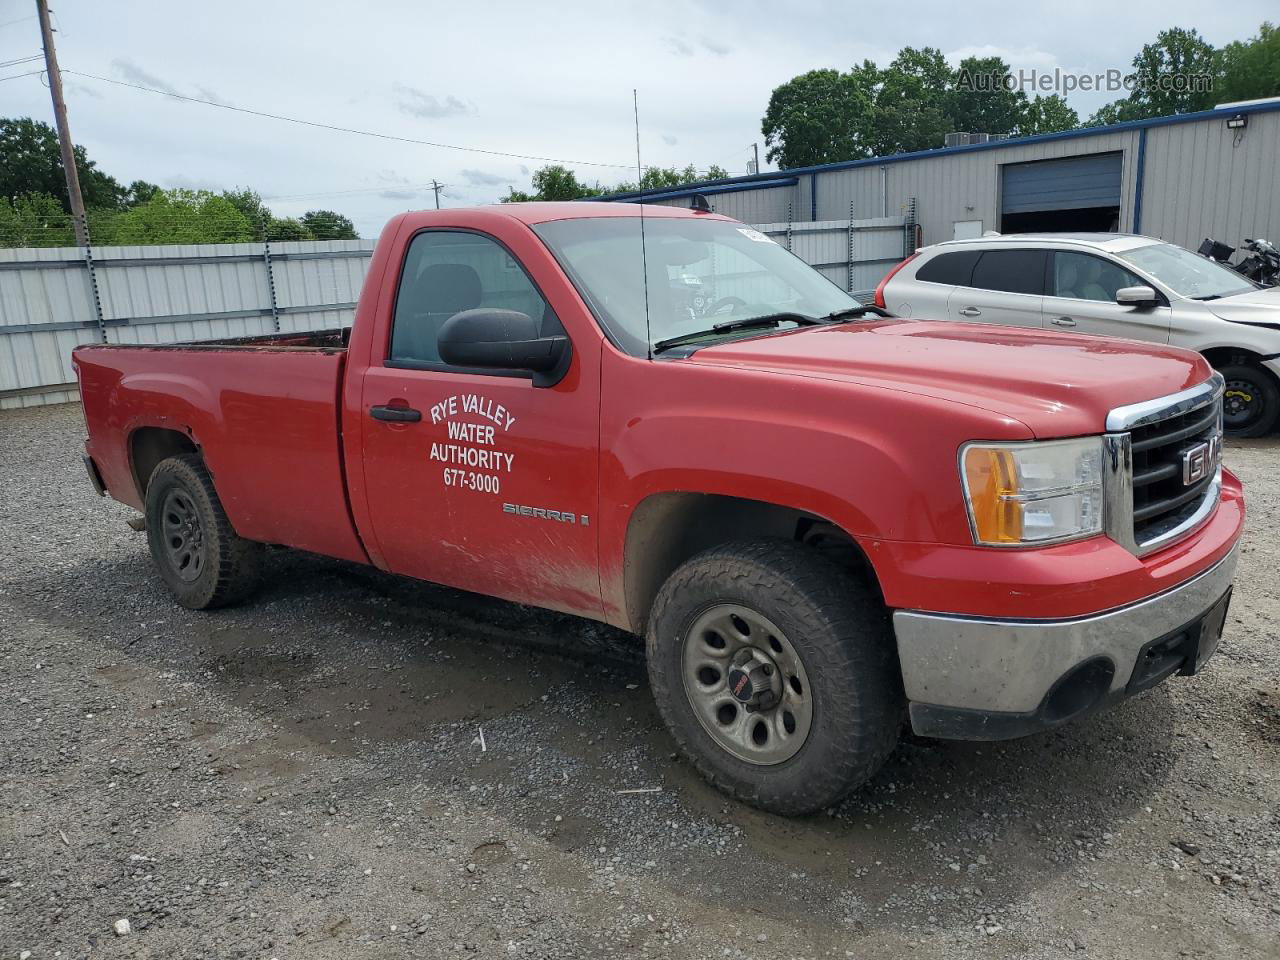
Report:
M468 419L460 420L460 416ZM488 397L463 393L431 404L431 424L442 422L448 431L448 442L433 440L429 458L444 465L444 485L476 493L502 493L502 477L512 472L516 454L499 449L499 443L516 417Z

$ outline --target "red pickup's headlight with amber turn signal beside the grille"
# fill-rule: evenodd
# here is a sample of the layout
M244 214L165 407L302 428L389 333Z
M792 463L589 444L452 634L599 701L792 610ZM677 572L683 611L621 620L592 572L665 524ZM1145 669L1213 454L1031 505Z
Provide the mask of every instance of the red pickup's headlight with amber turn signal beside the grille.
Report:
M960 474L974 543L1079 540L1102 532L1102 438L969 443Z

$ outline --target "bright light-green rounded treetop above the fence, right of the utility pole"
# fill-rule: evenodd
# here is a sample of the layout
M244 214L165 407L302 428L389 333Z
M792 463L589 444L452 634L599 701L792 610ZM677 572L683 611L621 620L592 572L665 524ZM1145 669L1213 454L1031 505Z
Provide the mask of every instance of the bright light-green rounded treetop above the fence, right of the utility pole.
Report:
M262 229L225 195L163 189L114 220L114 243L242 243Z

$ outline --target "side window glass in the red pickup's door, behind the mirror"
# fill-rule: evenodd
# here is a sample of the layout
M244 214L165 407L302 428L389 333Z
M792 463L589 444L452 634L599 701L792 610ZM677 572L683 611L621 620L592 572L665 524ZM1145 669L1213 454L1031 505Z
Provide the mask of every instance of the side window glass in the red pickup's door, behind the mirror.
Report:
M425 230L408 244L396 293L390 364L442 366L436 339L454 314L476 307L518 310L561 333L550 306L507 250L477 233Z

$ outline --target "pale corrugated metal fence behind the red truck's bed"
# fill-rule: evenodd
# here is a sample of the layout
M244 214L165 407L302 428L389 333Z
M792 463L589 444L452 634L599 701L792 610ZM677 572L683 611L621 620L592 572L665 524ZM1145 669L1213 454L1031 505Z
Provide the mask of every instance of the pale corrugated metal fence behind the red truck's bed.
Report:
M73 401L81 343L349 325L374 241L0 250L0 410Z

